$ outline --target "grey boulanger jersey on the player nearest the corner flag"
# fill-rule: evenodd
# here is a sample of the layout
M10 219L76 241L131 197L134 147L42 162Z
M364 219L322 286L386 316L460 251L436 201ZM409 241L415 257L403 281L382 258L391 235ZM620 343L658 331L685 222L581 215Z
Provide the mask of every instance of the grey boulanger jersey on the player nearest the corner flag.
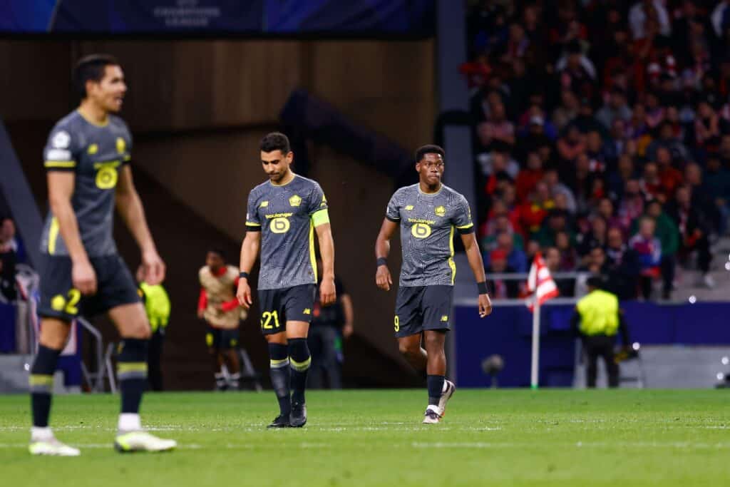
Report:
M401 226L401 286L453 285L454 233L474 231L464 196L445 185L434 194L406 186L393 194L385 218Z

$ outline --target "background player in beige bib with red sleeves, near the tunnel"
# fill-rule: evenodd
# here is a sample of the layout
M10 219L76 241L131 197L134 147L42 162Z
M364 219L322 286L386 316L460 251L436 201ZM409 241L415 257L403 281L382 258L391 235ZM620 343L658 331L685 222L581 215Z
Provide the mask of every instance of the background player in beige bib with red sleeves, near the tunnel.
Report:
M223 251L208 250L205 265L198 272L200 280L200 299L198 317L208 323L205 343L212 358L215 388L225 391L228 387L237 390L241 380L241 370L236 352L238 327L241 314L236 291L238 288L238 269L226 264ZM245 313L245 311L244 311ZM230 383L223 373L226 364Z

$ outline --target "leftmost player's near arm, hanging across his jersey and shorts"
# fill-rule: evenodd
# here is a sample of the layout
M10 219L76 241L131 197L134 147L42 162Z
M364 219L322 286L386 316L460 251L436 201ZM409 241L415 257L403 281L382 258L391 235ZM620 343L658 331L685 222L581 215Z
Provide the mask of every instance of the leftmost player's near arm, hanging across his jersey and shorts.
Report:
M58 230L64 239L66 249L73 263L72 282L81 294L96 293L96 272L91 266L88 254L81 242L79 223L71 204L76 185L74 172L48 172L48 201L53 216L58 221Z

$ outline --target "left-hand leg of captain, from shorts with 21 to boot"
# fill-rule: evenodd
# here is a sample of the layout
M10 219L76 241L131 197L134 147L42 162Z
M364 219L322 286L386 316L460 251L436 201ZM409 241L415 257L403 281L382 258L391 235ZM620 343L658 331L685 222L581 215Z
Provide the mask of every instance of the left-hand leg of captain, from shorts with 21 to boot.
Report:
M288 428L291 413L291 386L289 351L286 343L284 310L281 306L280 289L260 289L261 333L269 346L269 374L279 402L279 415L268 428Z

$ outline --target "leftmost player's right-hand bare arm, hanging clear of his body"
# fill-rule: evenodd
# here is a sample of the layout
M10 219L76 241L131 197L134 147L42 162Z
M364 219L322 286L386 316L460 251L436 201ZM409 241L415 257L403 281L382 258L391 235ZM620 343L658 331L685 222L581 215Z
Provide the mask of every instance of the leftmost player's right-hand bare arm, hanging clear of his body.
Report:
M157 253L150 227L147 226L145 209L137 194L137 188L134 188L132 170L128 165L123 166L119 171L115 199L117 211L137 241L139 250L142 251L145 281L150 285L161 283L165 280L165 264Z

